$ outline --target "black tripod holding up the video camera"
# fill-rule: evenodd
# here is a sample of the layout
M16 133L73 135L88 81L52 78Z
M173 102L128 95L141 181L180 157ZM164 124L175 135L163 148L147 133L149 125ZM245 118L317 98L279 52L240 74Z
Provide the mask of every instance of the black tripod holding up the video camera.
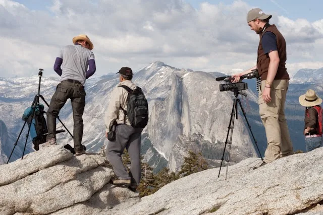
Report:
M238 90L231 90L232 92L234 92L234 96L235 98L233 99L233 106L232 106L232 111L231 111L231 118L230 118L230 122L229 122L229 127L228 127L228 133L227 133L227 139L225 141L225 146L224 146L224 150L223 150L223 155L222 155L222 161L221 161L221 166L220 166L220 170L219 170L219 176L218 178L220 177L220 172L221 172L221 167L222 167L222 163L223 163L223 160L224 160L224 154L225 154L225 151L226 151L226 147L227 147L227 144L229 144L229 152L228 152L228 158L227 158L227 171L226 171L226 179L227 180L227 175L228 175L228 167L229 167L229 159L230 159L230 151L231 151L231 145L232 145L232 132L233 132L233 125L234 125L234 118L236 117L236 119L238 119L238 103L240 105L240 108L241 108L241 111L244 115L244 118L246 119L246 122L248 124L248 128L251 132L251 135L252 135L252 138L253 138L253 141L258 149L258 152L259 152L259 155L261 157L261 154L260 154L260 151L259 151L259 148L258 148L258 145L257 145L257 141L256 139L254 138L254 135L252 133L252 130L251 130L251 126L248 122L248 119L247 119L247 116L246 116L246 113L244 112L243 108L242 108L242 105L241 105L241 101L240 99L238 98L238 95L243 95L243 96L247 96L247 94L245 93L241 93L239 92ZM230 134L230 138L229 138L229 134ZM229 141L228 141L229 139ZM263 161L263 158L261 157L261 160Z

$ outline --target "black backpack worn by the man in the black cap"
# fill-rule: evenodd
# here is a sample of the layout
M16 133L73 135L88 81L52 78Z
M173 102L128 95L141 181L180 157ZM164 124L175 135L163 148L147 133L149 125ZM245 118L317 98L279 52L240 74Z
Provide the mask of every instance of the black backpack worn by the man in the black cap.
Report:
M132 127L146 127L148 123L148 102L141 88L136 87L134 90L131 90L125 85L121 85L119 87L128 91L127 111L120 106L121 110L123 110L125 114L125 119L127 115Z

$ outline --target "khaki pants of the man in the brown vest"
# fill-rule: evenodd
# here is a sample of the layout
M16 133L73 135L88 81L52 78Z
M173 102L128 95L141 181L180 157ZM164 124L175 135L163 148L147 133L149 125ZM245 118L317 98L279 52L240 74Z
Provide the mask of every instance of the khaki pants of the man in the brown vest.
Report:
M262 99L265 81L261 81L258 104L267 137L267 149L264 153L265 163L271 163L281 157L293 154L292 141L284 113L288 85L288 80L274 80L271 87L272 101L265 103Z

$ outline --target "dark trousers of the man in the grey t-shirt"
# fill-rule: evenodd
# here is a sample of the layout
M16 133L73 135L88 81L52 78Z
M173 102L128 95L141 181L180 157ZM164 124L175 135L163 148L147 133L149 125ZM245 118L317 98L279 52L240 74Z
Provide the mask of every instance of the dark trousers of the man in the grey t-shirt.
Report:
M81 84L62 81L56 88L54 95L50 100L47 110L47 129L48 134L46 140L56 138L56 118L60 110L65 105L68 99L71 99L74 129L73 140L75 152L82 152L82 137L83 137L83 119L82 115L85 107L84 87Z

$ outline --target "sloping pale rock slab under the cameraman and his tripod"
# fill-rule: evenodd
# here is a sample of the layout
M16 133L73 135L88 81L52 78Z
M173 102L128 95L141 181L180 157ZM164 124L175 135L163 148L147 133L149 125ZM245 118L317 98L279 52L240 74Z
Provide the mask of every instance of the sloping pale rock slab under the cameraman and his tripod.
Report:
M271 164L246 159L170 183L116 214L323 214L323 148Z

